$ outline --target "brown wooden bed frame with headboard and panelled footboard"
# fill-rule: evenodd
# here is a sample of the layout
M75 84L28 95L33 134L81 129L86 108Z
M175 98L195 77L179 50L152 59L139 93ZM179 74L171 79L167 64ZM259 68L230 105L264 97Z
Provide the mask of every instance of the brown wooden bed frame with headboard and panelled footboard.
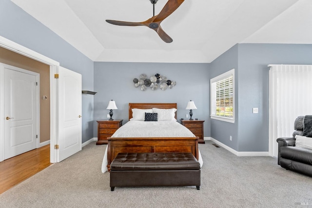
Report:
M177 104L129 103L129 120L132 118L133 108L150 109L153 107L162 109L177 109ZM175 118L177 118L176 115ZM199 137L108 137L107 139L107 167L109 171L111 162L114 160L119 152L191 152L198 160Z

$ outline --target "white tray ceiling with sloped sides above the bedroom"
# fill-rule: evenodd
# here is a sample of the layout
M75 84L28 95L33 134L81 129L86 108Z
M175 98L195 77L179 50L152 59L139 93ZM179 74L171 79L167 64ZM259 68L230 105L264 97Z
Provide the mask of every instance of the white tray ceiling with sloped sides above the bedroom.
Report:
M11 1L96 62L209 63L236 43L312 44L312 0L185 0L161 22L171 43L148 27L105 21L145 21L150 0Z

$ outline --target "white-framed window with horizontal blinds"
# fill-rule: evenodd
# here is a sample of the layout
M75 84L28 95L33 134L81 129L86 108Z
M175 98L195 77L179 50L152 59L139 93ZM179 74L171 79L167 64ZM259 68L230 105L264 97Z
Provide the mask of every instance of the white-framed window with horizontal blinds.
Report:
M210 89L210 117L234 123L234 69L211 79Z

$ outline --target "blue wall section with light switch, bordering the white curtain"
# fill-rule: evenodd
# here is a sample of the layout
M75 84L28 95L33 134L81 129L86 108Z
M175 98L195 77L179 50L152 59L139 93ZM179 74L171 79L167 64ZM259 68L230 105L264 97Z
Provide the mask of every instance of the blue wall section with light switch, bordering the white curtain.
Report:
M312 44L239 44L238 51L238 151L268 151L268 64L312 64Z

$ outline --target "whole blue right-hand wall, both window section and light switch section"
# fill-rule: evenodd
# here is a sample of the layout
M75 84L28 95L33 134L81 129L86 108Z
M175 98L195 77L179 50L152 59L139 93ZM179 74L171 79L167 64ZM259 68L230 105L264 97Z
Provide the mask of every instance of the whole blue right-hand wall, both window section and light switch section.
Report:
M235 68L235 124L212 120L211 136L236 151L269 149L268 64L312 64L312 44L236 44L210 64L211 78Z

